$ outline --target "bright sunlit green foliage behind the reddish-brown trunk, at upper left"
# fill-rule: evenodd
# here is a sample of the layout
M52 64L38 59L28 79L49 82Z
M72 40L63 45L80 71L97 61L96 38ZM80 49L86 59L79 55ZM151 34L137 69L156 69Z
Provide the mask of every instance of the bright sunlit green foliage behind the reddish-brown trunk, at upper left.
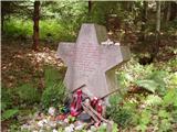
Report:
M40 40L74 41L79 28L87 20L85 1L52 1L41 6ZM25 19L11 16L4 22L4 32L8 36L32 38L33 21L28 15Z

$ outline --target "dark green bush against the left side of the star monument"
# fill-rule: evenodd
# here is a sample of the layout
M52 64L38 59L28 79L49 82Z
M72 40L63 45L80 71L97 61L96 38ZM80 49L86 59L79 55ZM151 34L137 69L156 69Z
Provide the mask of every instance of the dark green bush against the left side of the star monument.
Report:
M45 69L45 89L42 94L41 102L44 108L58 107L65 97L65 87L56 69L49 67Z

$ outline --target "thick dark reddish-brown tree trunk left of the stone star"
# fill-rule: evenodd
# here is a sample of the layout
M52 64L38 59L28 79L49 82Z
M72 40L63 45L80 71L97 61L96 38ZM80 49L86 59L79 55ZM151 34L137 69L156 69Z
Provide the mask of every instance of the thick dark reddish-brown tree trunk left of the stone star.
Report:
M39 20L40 20L40 1L34 1L34 12L33 12L33 45L32 48L38 51L39 46Z

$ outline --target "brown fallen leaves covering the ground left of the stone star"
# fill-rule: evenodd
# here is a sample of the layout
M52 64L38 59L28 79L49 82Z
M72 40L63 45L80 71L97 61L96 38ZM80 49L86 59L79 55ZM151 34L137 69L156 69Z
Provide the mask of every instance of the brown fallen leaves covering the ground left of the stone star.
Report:
M30 48L30 44L21 46L19 41L2 41L2 84L3 87L15 87L20 82L29 82L34 78L43 78L43 67L52 65L58 68L63 63L55 57L55 51L41 45L39 52Z

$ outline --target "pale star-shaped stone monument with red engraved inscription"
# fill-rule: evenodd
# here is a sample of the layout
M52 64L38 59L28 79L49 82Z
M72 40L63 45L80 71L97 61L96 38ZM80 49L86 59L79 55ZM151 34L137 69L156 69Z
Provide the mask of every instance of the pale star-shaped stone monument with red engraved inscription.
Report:
M76 43L62 42L58 56L67 66L64 82L74 90L85 84L84 92L102 97L117 88L115 66L129 59L129 50L119 45L101 45L107 40L106 29L82 24Z

